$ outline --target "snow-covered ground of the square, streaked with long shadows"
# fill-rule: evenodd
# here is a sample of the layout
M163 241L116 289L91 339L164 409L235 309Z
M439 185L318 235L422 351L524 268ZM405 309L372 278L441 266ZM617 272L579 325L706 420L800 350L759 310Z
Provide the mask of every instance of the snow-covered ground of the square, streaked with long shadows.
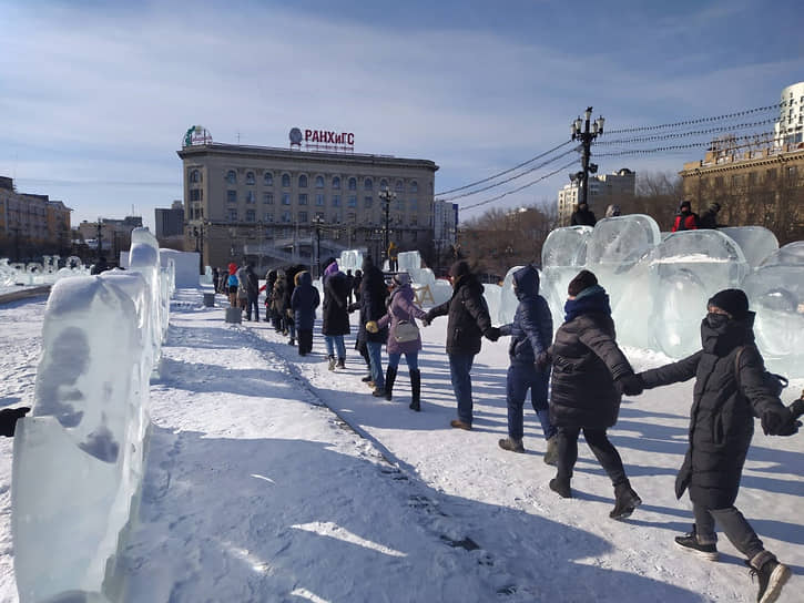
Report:
M223 297L217 297L223 304ZM261 308L262 309L262 308ZM43 299L0 306L0 406L30 402ZM356 316L353 317L353 320ZM423 330L423 412L370 396L347 344L330 372L317 334L297 356L267 323L226 325L201 293L173 304L164 378L152 385L153 429L138 521L122 560L123 600L143 602L754 601L741 555L679 551L691 523L673 481L686 439L691 384L628 399L611 437L644 504L608 513L612 488L583 444L572 500L526 408L527 454L502 451L507 338L484 343L472 369L476 421L449 428L455 401L446 317ZM627 350L637 369L655 354ZM791 385L785 401L804 382ZM759 427L759 426L757 426ZM737 507L804 587L804 435L757 433ZM0 600L17 601L10 534L11 441L0 441ZM47 563L43 563L43 571Z

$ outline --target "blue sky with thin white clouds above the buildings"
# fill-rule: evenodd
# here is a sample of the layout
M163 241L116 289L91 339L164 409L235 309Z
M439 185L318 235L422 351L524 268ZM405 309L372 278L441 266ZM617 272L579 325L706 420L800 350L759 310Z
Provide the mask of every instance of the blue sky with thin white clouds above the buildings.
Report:
M620 129L770 105L804 80L797 0L0 0L0 175L73 224L132 206L152 224L181 198L192 124L267 146L294 125L354 132L356 152L435 161L441 191L566 141L590 104ZM701 153L599 163L678 171Z

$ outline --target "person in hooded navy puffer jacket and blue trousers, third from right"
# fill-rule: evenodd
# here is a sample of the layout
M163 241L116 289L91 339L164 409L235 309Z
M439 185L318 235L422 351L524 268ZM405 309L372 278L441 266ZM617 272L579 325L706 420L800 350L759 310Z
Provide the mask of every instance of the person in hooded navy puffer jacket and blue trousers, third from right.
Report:
M552 316L547 300L539 295L539 272L529 265L513 273L513 292L519 299L513 323L500 327L501 336L511 336L508 346L511 365L506 384L508 438L500 440L499 444L503 450L525 452L522 407L530 390L530 403L547 439L545 462L556 464L556 428L550 422L547 401L550 381L547 350L552 344Z

